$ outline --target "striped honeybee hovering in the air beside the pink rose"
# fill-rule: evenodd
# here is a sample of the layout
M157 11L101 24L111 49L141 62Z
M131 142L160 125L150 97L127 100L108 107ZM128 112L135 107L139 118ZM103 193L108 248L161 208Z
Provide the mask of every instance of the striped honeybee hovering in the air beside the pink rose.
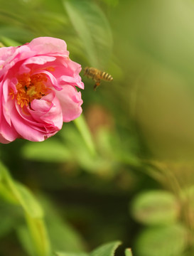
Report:
M113 80L112 76L108 73L98 70L97 68L89 68L86 67L84 70L84 75L87 76L87 78L92 78L95 80L95 86L94 90L100 85L100 80L105 80L111 82Z

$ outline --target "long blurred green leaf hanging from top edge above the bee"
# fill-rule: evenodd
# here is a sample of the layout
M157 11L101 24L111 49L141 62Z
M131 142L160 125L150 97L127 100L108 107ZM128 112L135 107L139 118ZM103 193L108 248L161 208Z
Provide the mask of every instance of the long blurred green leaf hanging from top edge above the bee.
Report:
M112 53L112 33L107 18L93 1L63 0L63 5L90 65L104 68Z

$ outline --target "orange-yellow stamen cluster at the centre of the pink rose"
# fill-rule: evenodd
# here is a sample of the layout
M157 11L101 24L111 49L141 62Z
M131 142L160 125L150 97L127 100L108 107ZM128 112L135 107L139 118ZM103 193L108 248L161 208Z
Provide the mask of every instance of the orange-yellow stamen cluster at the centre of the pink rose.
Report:
M22 74L16 85L17 92L14 93L14 90L11 89L12 100L16 97L18 105L27 107L32 100L40 100L41 97L48 94L50 88L45 86L46 82L47 78L43 73L31 76Z

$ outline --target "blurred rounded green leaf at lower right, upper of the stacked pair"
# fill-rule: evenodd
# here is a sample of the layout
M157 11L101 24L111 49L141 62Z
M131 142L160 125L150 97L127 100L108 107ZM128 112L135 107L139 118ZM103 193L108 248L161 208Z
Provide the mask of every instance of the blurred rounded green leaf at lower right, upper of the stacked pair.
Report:
M173 194L157 190L144 192L136 196L131 212L139 222L157 225L176 222L179 208Z

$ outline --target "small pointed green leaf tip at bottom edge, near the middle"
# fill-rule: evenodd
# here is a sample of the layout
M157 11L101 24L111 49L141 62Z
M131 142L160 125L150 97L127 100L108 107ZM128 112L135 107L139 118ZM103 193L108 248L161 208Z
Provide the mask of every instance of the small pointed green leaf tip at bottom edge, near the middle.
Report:
M109 242L105 245L97 247L90 253L90 256L114 256L114 252L117 247L121 245L120 241Z

